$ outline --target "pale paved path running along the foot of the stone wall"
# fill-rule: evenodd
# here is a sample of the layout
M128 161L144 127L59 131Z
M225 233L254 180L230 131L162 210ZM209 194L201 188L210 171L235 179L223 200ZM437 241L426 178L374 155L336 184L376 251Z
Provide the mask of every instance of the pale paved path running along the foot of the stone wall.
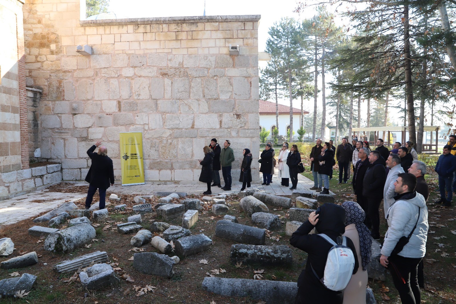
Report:
M223 181L223 180L222 180ZM255 181L254 181L255 182ZM291 195L289 187L280 186L280 180L277 175L273 176L273 182L267 185L261 185L262 180L258 183L252 183L252 187L259 188L266 191L266 193L274 195ZM83 184L81 184L83 185ZM291 186L291 183L290 183ZM313 186L313 181L305 176L298 175L298 190L309 190ZM228 192L239 192L241 184L233 184L232 190ZM202 194L206 191L206 185L135 185L135 186L122 186L114 185L109 188L109 192L116 194L151 194L154 191L174 191L174 192L187 192L189 194ZM223 192L218 187L212 187L212 194ZM333 194L331 192L331 194ZM0 225L13 224L22 221L26 218L34 217L44 211L49 211L56 208L66 200L76 201L84 194L68 194L60 192L49 192L47 189L41 191L31 192L22 196L16 196L4 201L0 201Z

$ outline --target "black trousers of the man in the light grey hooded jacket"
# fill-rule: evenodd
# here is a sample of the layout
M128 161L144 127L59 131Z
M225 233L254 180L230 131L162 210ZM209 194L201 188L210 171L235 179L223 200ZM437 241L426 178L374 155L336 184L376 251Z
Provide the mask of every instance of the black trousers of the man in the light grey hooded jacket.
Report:
M421 292L418 286L418 264L422 258L404 258L394 255L388 258L388 270L393 277L402 304L420 304Z

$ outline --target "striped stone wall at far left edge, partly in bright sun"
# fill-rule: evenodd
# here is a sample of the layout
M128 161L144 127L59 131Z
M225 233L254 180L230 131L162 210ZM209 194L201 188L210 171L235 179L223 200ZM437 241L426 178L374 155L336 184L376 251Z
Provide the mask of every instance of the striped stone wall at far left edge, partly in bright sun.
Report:
M20 60L24 53L22 3L0 2L2 52L0 56L0 173L20 170L21 160L21 94ZM22 66L23 68L23 66ZM22 84L23 89L25 85ZM23 97L23 96L22 96ZM26 164L28 165L28 159Z

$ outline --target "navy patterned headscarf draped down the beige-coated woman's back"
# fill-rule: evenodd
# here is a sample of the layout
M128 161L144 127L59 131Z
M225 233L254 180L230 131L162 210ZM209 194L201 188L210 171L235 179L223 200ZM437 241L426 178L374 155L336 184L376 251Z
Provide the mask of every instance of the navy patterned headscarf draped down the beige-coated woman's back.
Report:
M345 209L345 225L355 224L358 231L359 247L361 247L361 263L363 265L363 271L365 271L372 258L372 238L368 227L364 225L366 214L363 208L354 201L344 201L342 208Z

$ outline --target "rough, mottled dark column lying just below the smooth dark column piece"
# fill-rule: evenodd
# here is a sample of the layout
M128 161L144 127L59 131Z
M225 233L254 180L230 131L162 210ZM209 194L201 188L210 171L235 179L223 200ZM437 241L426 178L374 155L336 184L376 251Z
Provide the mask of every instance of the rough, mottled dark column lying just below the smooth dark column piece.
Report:
M245 265L260 264L267 266L290 265L293 262L288 246L256 246L234 244L231 246L230 262Z

